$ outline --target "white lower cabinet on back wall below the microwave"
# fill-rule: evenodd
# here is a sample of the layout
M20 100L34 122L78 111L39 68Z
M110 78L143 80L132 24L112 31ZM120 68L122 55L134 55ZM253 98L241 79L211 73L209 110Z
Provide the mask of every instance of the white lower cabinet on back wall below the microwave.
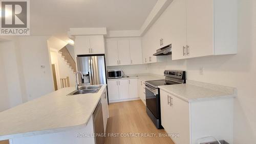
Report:
M138 98L137 79L108 80L108 90L110 103Z

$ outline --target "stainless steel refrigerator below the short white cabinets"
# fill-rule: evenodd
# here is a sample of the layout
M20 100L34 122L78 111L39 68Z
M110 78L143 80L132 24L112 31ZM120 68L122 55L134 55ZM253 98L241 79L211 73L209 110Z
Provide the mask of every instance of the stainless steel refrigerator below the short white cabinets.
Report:
M106 84L105 56L77 56L77 70L82 72L79 76L80 85Z

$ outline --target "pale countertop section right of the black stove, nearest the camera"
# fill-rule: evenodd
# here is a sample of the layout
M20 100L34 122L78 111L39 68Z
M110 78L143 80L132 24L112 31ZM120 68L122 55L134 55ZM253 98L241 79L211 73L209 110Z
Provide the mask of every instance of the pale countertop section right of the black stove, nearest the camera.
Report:
M187 102L237 96L236 88L196 81L187 81L186 84L164 85L159 86L159 88Z

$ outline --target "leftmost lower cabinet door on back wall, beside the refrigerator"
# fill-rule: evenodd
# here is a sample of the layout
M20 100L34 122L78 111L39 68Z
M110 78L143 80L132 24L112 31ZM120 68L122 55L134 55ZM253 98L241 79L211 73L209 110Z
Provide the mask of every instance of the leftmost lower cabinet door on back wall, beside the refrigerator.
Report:
M109 92L109 100L119 100L119 84L117 80L108 81L108 92Z

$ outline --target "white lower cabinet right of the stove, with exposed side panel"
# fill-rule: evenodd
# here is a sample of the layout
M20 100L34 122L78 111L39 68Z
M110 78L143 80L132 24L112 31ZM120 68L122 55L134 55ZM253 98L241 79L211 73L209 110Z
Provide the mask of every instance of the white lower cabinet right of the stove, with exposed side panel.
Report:
M187 102L160 89L161 123L176 144L214 136L233 143L233 98ZM176 136L177 135L177 136Z

